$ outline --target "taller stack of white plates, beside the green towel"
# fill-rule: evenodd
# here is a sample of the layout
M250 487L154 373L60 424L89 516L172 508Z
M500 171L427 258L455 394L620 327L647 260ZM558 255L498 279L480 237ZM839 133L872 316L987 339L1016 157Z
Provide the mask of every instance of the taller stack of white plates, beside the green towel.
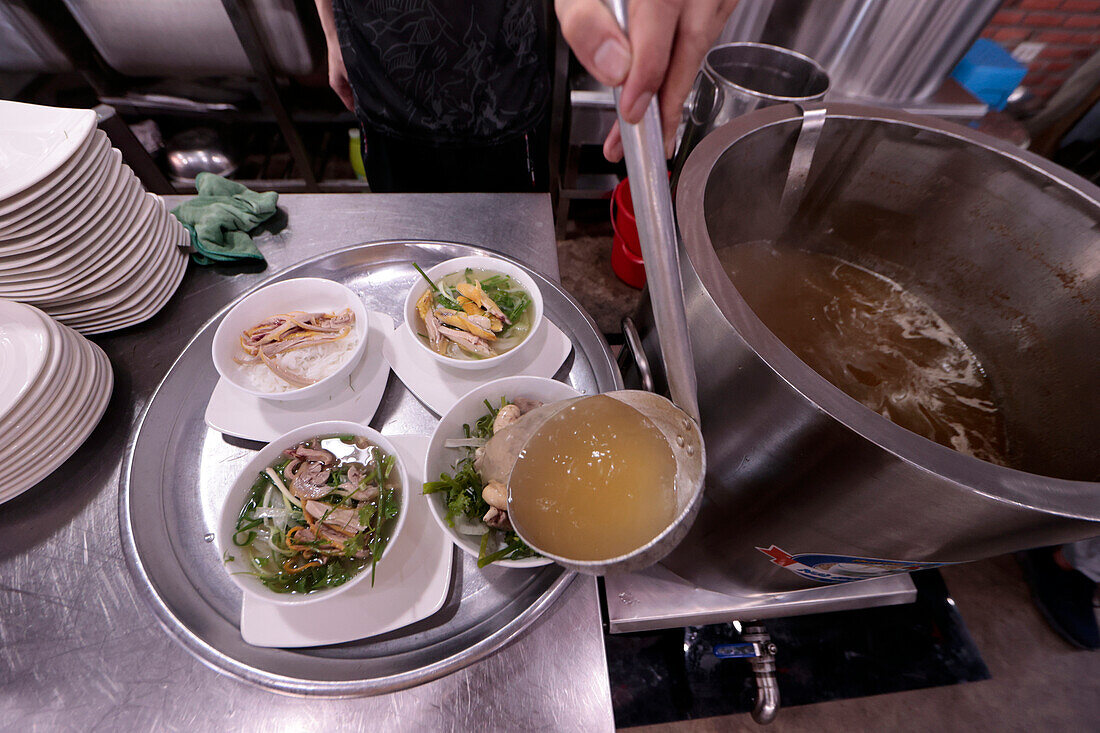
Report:
M176 292L188 244L92 110L0 101L0 297L85 333L125 328Z

